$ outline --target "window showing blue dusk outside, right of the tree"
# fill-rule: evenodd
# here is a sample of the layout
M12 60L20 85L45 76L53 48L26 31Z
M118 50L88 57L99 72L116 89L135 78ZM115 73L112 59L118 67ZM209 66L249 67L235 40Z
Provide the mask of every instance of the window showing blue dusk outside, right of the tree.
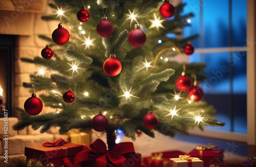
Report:
M190 62L207 65L201 83L204 99L217 109L216 119L225 127L207 130L247 133L246 24L247 3L240 0L183 0L184 13L194 13L183 36L199 34Z

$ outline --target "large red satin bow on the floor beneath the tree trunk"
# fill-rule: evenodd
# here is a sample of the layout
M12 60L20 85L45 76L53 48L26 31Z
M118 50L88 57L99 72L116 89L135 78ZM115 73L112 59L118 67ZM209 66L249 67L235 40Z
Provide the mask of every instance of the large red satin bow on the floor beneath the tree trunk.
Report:
M84 151L76 154L74 159L74 167L81 166L82 162L86 166L101 166L101 167L115 167L122 166L126 163L126 159L122 154L134 153L133 143L119 143L110 150L106 150L105 143L97 139L93 144L90 145L91 150L84 147ZM108 160L111 163L108 162Z

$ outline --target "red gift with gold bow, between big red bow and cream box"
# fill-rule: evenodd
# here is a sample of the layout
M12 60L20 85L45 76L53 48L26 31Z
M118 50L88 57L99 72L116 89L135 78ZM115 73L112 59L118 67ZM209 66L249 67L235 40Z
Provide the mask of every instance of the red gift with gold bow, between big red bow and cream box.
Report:
M181 151L165 151L160 153L152 153L151 157L143 158L143 167L167 167L169 166L169 158L176 158L184 155Z

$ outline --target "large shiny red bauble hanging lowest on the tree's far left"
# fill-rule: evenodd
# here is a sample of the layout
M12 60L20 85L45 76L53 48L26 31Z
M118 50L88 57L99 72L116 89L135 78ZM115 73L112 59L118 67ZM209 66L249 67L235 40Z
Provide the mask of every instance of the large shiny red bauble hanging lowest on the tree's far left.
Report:
M36 97L35 93L33 93L32 97L25 101L24 108L29 115L37 115L42 111L42 101Z

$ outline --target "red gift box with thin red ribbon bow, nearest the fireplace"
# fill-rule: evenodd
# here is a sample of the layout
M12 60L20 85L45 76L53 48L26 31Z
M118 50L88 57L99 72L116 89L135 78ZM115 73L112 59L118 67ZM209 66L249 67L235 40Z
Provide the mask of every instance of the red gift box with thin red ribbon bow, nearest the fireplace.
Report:
M67 166L65 161L71 163L77 153L83 150L82 145L76 145L65 142L62 138L57 142L47 142L42 146L25 147L25 156L27 159L40 160L45 166L48 163L53 163L55 166Z

